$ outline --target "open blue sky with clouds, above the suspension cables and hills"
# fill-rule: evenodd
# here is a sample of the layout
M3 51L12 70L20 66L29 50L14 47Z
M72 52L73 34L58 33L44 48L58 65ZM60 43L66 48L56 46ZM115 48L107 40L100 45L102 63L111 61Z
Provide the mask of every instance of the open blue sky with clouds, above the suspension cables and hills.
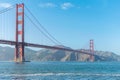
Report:
M65 46L94 39L96 50L120 54L120 0L0 0L0 9L21 2Z

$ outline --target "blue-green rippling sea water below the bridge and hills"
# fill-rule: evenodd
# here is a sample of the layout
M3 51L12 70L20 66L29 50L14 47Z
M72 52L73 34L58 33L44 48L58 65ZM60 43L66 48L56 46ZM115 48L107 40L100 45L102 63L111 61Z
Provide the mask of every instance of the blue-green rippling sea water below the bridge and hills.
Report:
M0 62L0 80L120 80L120 62Z

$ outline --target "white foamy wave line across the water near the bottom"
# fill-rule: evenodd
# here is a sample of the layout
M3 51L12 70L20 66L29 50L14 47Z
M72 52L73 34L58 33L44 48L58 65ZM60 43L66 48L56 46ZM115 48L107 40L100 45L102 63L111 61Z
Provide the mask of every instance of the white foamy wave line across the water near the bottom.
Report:
M36 73L36 74L0 74L0 76L13 76L13 77L32 77L32 76L111 76L111 77L120 77L118 74L102 74L102 73Z

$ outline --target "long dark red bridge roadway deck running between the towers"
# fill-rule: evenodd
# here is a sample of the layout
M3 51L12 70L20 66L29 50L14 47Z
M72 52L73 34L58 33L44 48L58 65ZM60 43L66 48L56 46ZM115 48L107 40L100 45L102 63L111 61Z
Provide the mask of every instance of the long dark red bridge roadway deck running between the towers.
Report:
M9 41L9 40L0 40L0 44L16 45L16 44L23 44L23 43L22 42L16 43L15 41ZM26 43L26 42L24 42L24 46L27 46L27 47L37 47L37 48L47 48L47 49L57 49L57 50L77 52L77 53L83 53L83 54L95 56L95 54L92 54L92 53L87 52L87 51L74 50L74 49L68 49L68 48L61 48L61 47L55 47L55 46L48 46L48 45L40 45L40 44L33 44L33 43Z

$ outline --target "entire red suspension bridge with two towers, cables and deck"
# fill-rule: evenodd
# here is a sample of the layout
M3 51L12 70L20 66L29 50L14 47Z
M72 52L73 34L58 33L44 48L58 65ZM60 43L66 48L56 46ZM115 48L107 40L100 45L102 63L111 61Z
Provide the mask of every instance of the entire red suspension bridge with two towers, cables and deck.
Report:
M5 14L6 12L9 12L11 9L15 8L15 15L16 17L12 17L10 18L10 20L12 20L13 18L15 18L15 34L14 31L10 32L10 34L14 35L14 39L15 40L8 40L8 39L4 39L1 38L0 39L0 44L6 44L6 45L13 45L15 46L15 55L14 55L14 61L15 62L25 62L25 56L24 56L24 49L25 47L36 47L36 48L46 48L46 49L57 49L57 50L64 50L64 51L70 51L70 52L77 52L77 53L82 53L82 54L87 54L90 55L90 61L94 61L94 41L90 40L90 45L89 45L89 50L85 50L85 49L80 49L80 50L74 50L74 49L69 49L69 48L62 48L62 47L57 47L57 46L48 46L48 45L43 45L43 44L38 44L38 43L29 43L25 41L25 16L30 20L30 22L45 36L47 37L50 41L52 41L53 43L60 43L58 40L56 40L43 26L43 30L47 33L47 35L41 31L41 29L32 21L32 19L25 13L25 5L22 4L16 4L13 5L9 8L6 8L2 11L0 11L0 15L1 14ZM31 14L31 16L34 17L34 19L36 20L36 22L41 26L41 24L39 23L39 21L35 18L35 16L32 14L32 12L30 12L30 10L26 7L26 9L28 10L28 12ZM10 15L9 15L10 16ZM10 16L11 17L11 16ZM2 16L2 18L4 18ZM4 20L1 20L1 24L2 28L5 27L7 24L7 26L9 26L9 23L3 22ZM4 23L6 25L4 25ZM12 24L12 23L11 23ZM8 30L9 31L9 30ZM3 36L3 31L1 31L1 35ZM34 33L34 32L32 32ZM6 34L8 35L8 34ZM50 37L48 37L48 35ZM30 35L29 35L30 36ZM37 35L34 35L37 36ZM61 43L60 43L61 44Z

